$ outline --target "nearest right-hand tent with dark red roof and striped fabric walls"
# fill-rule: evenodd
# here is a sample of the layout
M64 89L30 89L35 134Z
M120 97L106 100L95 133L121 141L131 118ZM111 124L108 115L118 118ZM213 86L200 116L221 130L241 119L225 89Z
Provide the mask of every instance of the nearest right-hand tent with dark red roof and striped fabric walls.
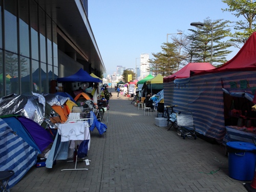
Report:
M230 95L253 100L253 90L256 89L256 32L238 54L221 67L193 73L194 76L164 83L164 104L177 104L177 111L192 112L196 131L222 143L226 133L223 94L240 92L243 94ZM237 86L232 87L231 84Z

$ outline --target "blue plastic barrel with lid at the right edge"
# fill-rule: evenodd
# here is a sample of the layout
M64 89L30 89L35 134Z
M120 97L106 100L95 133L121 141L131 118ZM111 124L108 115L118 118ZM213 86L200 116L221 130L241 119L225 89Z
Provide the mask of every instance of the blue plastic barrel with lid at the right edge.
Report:
M247 142L227 142L229 177L251 181L256 163L256 146Z

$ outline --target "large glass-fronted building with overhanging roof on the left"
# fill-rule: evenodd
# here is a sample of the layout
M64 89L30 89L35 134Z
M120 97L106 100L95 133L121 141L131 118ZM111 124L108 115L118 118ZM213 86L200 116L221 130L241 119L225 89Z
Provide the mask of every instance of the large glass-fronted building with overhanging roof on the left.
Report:
M80 68L105 73L87 0L0 0L0 7L0 96L49 93L51 80Z

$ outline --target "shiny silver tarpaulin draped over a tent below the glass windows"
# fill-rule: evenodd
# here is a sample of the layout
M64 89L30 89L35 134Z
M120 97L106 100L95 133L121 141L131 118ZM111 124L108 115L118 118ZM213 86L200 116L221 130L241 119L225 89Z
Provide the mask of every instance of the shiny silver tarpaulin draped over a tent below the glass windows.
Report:
M4 115L21 115L41 124L44 122L45 105L35 95L11 94L0 99L0 116Z

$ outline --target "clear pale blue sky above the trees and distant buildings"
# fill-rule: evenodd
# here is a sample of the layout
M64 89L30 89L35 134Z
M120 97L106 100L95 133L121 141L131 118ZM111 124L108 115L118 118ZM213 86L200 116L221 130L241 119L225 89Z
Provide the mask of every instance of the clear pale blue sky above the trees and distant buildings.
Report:
M221 0L89 0L88 18L108 75L117 66L135 68L142 53L161 52L167 34L188 34L192 22L237 18ZM168 35L168 42L171 41ZM238 49L227 56L230 60ZM139 59L137 59L137 65Z

